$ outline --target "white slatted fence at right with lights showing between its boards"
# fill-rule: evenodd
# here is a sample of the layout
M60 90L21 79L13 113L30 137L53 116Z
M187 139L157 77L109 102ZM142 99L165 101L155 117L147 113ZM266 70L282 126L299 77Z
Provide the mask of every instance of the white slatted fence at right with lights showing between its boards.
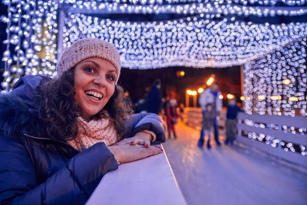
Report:
M307 167L307 117L238 114L237 141Z

